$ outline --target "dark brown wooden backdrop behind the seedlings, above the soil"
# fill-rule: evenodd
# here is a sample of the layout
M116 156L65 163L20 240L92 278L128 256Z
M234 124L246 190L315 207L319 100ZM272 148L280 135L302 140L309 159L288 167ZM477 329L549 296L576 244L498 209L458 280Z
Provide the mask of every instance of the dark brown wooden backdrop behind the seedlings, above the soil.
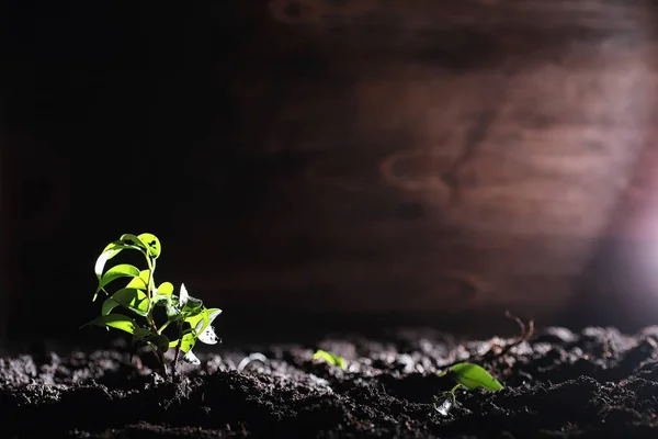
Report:
M3 14L11 337L141 232L225 339L658 322L648 2L189 3Z

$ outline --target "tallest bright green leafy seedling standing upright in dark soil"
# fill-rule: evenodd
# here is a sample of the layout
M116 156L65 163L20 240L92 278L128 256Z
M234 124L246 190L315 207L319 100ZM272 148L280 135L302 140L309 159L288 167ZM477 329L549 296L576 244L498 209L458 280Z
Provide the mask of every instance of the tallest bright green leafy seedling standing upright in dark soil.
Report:
M105 270L107 261L123 250L141 254L148 268L139 270L135 266L121 263ZM158 358L164 375L164 353L174 349L171 376L175 378L180 352L183 352L184 361L200 364L198 358L192 352L196 341L206 345L215 345L218 341L212 324L222 309L206 308L201 300L190 296L184 284L181 284L178 295L173 294L174 288L170 282L162 282L156 286L154 273L161 250L160 240L147 233L138 236L122 235L118 240L110 243L95 262L94 271L99 284L92 301L94 302L100 293L104 293L107 299L103 302L101 315L83 327L101 326L107 330L113 328L131 334L133 349L148 346ZM120 279L128 280L127 284L110 293L107 286L115 284ZM160 312L156 314L158 308ZM126 312L127 315L117 313L117 309ZM173 339L164 335L164 329L170 325L175 327Z

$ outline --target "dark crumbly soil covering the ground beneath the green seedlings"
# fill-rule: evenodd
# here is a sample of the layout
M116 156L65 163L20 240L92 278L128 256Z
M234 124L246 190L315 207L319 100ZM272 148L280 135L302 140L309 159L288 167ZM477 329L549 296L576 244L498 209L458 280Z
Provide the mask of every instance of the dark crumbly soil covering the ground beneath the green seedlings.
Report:
M198 353L201 365L182 367L178 383L156 373L150 356L131 361L121 344L7 354L0 437L657 438L657 339L658 327L553 327L494 358L485 352L512 339L400 329L306 346L219 346ZM317 348L344 357L348 370L313 360ZM240 364L257 352L264 361ZM457 392L444 416L433 403L453 382L436 372L461 360L506 389Z

